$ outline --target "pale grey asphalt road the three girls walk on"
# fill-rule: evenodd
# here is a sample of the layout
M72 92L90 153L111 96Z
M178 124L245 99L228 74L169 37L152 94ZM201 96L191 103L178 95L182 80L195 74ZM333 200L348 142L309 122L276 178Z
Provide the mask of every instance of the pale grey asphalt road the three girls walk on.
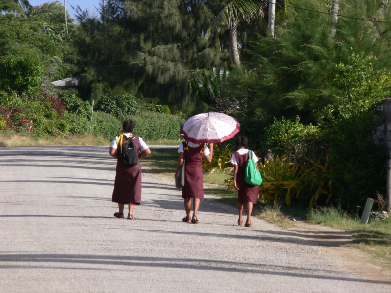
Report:
M238 227L211 196L199 224L183 223L180 191L155 170L143 169L137 220L114 218L105 146L0 148L0 168L0 292L391 292L311 233Z

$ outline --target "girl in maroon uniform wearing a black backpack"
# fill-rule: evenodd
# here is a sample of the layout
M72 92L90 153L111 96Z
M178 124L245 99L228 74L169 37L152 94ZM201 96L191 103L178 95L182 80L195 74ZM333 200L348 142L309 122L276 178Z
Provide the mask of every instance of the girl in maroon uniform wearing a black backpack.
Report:
M141 137L133 136L134 122L126 120L123 123L123 138L119 139L116 136L110 146L110 155L117 158L117 167L115 169L114 190L112 194L112 202L118 203L119 211L114 213L116 218L124 218L124 206L129 205L128 219L134 220L133 209L134 205L139 205L141 202L141 166L140 160L137 160L135 166L128 166L121 162L118 158L122 149L121 143L124 144L129 138L132 139L133 146L136 148L138 158L144 158L151 154L151 150Z

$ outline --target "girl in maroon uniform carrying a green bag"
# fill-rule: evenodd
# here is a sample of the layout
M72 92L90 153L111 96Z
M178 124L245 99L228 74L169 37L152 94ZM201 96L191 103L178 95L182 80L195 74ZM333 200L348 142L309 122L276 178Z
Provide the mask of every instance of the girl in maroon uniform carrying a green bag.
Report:
M234 186L238 191L238 225L241 226L243 223L243 206L246 204L247 220L245 226L251 227L251 213L253 211L253 204L257 203L260 188L259 186L251 185L244 181L246 162L249 158L247 137L238 136L235 140L235 144L237 150L231 157L231 163L234 165ZM251 159L256 163L258 162L258 158L253 151L251 151Z

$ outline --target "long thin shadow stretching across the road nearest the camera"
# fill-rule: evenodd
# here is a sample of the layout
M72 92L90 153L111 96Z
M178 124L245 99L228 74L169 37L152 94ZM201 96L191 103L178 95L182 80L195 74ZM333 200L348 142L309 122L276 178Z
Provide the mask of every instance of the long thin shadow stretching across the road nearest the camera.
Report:
M95 266L109 266L108 268L94 267L94 269L115 270L113 266L133 267L162 267L174 269L208 270L222 272L238 272L288 276L297 278L316 278L338 280L345 282L361 282L371 284L387 284L388 281L376 281L341 276L341 272L334 270L318 270L303 267L267 265L256 263L241 263L236 261L221 261L213 259L142 257L142 256L112 256L112 255L83 255L83 254L0 254L1 262L20 263L15 265L1 265L2 268L46 269L52 268L48 264L66 264L56 266L57 269L69 270L69 264L88 264ZM28 265L27 263L31 263ZM240 269L238 269L240 268ZM72 269L79 269L72 267ZM85 269L85 268L80 268ZM302 272L301 272L302 271Z

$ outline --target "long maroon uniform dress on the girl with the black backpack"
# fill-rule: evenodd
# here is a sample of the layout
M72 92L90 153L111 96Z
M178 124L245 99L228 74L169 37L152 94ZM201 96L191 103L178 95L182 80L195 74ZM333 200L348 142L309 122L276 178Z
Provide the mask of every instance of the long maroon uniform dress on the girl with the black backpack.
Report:
M133 145L140 151L141 144L138 136L133 139ZM117 145L117 153L121 146ZM114 190L111 201L119 204L136 204L141 202L141 166L140 160L137 165L129 167L122 164L117 158L117 167L115 170Z

